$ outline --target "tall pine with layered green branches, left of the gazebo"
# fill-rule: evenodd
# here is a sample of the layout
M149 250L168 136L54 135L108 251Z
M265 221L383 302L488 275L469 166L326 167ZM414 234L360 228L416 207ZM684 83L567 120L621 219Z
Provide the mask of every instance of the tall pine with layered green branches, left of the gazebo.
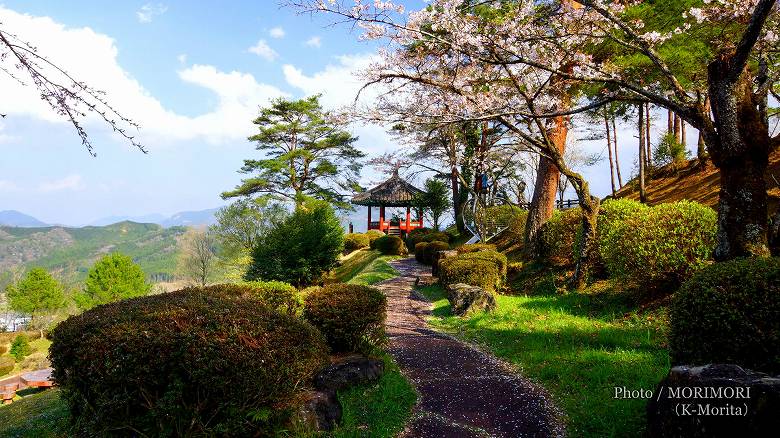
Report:
M242 180L222 197L265 195L303 202L304 196L348 207L345 198L358 188L360 159L345 122L323 110L320 96L301 100L278 98L254 120L258 134L249 137L264 156L244 160ZM348 192L348 193L343 193Z

